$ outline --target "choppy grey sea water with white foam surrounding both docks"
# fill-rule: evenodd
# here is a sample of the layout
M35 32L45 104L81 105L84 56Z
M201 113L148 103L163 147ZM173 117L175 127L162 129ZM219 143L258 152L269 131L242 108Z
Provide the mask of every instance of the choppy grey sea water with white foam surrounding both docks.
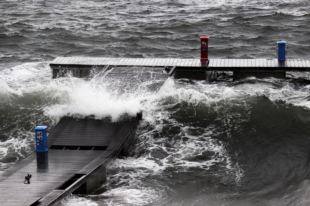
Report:
M309 205L308 73L232 82L51 78L58 56L308 58L309 1L0 2L0 171L66 115L144 117L108 182L64 205ZM139 75L138 75L139 77ZM97 81L98 80L98 81Z

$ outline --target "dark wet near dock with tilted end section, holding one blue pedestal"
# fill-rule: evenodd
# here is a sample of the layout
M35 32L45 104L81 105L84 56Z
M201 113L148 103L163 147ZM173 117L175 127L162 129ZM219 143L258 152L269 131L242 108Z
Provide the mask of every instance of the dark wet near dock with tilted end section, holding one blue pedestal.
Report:
M90 193L105 181L106 163L126 155L140 118L61 119L47 152L33 152L0 174L0 205L54 205L73 191Z

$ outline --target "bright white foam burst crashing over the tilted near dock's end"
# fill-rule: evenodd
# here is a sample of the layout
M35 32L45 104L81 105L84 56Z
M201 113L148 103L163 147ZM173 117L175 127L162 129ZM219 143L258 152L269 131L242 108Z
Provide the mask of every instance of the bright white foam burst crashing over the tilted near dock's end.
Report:
M114 95L103 85L92 86L87 81L68 82L54 81L51 89L55 98L61 99L58 104L49 105L44 108L45 114L51 118L61 118L66 115L82 115L95 118L112 116L115 120L118 116L127 113L135 116L141 109L139 97L128 97L126 95ZM54 84L57 85L55 88ZM60 90L60 92L58 92Z

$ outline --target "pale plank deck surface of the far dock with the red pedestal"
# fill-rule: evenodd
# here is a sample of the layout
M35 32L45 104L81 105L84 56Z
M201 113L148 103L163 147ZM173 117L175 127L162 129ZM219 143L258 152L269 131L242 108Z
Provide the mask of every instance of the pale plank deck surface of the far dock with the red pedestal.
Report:
M178 66L178 67L201 67L199 59L178 58L109 58L109 57L57 57L51 62L51 67L70 66ZM215 68L310 68L309 59L210 59L210 69Z

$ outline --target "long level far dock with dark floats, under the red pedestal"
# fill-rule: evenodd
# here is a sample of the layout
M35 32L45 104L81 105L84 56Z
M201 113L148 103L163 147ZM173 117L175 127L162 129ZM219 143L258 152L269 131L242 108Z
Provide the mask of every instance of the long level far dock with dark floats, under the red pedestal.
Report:
M89 71L89 69L117 67L153 67L167 73L174 68L171 75L176 78L193 78L204 80L208 71L231 71L234 79L246 76L285 78L287 71L310 71L310 59L178 59L178 58L109 58L109 57L57 57L50 64L53 78L62 76L61 72ZM84 73L79 72L79 77ZM87 75L86 75L87 76Z

